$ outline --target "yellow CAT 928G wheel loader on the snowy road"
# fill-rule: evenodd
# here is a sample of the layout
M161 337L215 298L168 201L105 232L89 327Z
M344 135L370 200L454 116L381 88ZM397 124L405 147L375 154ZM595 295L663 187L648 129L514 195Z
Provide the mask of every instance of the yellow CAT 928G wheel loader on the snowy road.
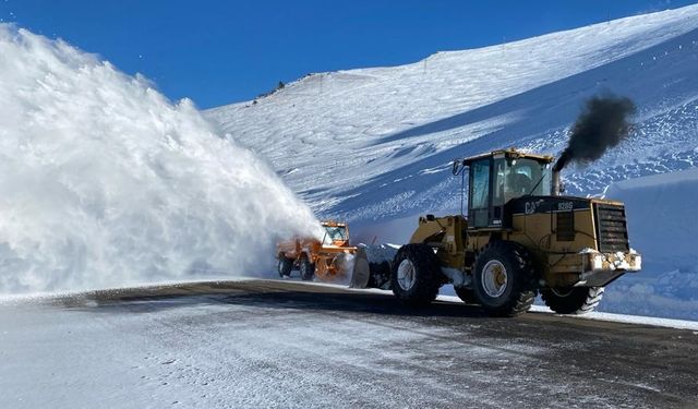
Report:
M423 305L453 284L466 303L513 316L540 292L553 311L578 314L599 303L604 286L638 272L624 205L561 195L552 161L513 148L454 161L454 175L468 169L467 217L419 218L392 263L395 296Z

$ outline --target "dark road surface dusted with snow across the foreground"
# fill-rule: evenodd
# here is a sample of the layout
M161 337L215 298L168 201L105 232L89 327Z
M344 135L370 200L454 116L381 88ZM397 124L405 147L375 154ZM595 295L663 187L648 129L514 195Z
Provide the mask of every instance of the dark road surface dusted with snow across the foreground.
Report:
M294 281L0 304L0 407L698 407L698 333Z

